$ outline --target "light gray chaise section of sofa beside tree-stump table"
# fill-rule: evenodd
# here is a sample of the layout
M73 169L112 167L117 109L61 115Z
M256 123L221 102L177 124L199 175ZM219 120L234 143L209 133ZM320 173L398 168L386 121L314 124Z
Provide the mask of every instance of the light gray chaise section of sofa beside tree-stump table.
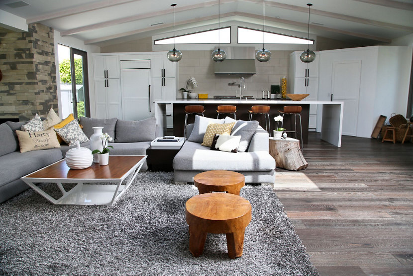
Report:
M190 137L194 124L187 127ZM269 134L260 126L245 152L211 150L201 143L187 140L174 158L175 182L193 182L194 176L207 170L232 170L242 173L246 183L274 183L275 160L268 153Z

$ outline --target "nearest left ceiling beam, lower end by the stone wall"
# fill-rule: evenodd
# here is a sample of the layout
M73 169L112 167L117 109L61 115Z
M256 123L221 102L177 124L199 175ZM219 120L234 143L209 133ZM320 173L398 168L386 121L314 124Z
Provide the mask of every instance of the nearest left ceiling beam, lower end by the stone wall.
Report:
M97 9L101 9L105 7L121 5L121 4L130 3L130 2L136 2L136 1L140 1L140 0L103 0L99 2L93 2L90 4L86 4L86 5L79 5L73 8L63 9L60 11L51 12L51 13L47 13L47 14L43 14L39 16L29 17L26 19L26 23L27 24L37 23L40 21L65 17L69 15L84 13L87 11L97 10Z

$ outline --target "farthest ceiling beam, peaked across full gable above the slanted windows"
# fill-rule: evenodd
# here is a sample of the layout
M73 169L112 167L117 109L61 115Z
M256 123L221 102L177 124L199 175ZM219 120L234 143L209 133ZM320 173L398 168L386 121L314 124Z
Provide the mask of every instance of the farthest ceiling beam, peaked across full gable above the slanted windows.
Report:
M243 16L243 17L262 19L262 15L257 15L257 14L247 13L247 12L238 12L238 11L221 14L221 18L222 17L229 17L229 16L236 16L236 15ZM215 19L215 18L218 18L218 15L211 15L211 16L205 16L205 17L200 17L200 18L175 22L175 26L180 26L180 25L194 23L194 22L200 22L200 21L206 21L206 20ZM274 17L270 17L270 16L265 16L265 21L272 21L272 22L278 22L278 23L283 23L283 24L295 25L295 26L299 26L299 27L304 27L305 29L307 29L307 27L308 27L307 23L297 22L297 21L292 21L292 20L287 20L287 19L282 19L282 18L274 18ZM103 37L100 37L100 38L86 40L85 44L99 43L99 42L103 42L103 41L107 41L107 40L111 40L111 39L121 38L121 37L129 36L129 35L139 34L139 33L142 33L142 32L153 31L153 30L158 30L158 29L163 29L163 28L172 27L172 26L173 26L173 24L170 23L170 24L165 24L165 25L147 27L147 28L143 28L143 29L139 29L139 30L133 30L133 31L123 32L123 33L117 33L117 34L113 34L113 35L103 36ZM367 35L367 34L363 34L363 33L344 31L344 30L333 29L333 28L328 28L328 27L324 27L324 26L311 25L311 28L312 29L319 29L319 30L324 30L324 31L335 32L335 33L346 34L346 35L355 36L355 37L362 37L362 38L367 38L367 39L386 42L386 43L391 43L392 42L391 39L387 39L387 38L383 38L383 37L379 37L379 36L373 36L373 35Z

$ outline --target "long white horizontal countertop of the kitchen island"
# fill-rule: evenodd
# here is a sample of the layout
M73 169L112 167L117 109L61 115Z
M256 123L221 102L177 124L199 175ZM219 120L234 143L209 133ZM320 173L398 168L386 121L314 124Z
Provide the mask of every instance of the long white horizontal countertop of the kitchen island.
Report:
M329 101L280 101L280 100L174 100L174 101L154 101L158 104L317 104L317 105L342 105L343 102Z

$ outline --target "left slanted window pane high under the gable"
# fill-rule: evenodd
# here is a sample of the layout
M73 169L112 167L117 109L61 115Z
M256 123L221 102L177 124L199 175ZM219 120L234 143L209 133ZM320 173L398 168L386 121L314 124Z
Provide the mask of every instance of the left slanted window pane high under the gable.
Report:
M230 27L221 28L219 30L219 43L230 43ZM218 29L190 33L175 37L175 44L217 44L218 43ZM155 45L158 44L174 44L174 38L164 38L155 40Z

